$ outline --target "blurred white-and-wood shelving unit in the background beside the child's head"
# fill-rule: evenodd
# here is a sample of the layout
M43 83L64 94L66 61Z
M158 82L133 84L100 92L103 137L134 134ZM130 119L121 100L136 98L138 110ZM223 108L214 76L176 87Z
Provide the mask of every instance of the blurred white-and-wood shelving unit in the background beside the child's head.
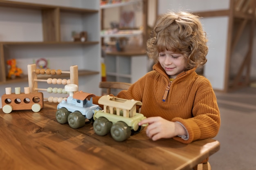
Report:
M130 0L128 2L120 2L115 4L101 5L101 30L103 30L104 9L125 7L127 5L142 3L141 27L143 29L120 29L117 33L105 33L101 31L101 38L130 38L132 36L142 35L141 48L131 48L131 50L106 52L104 58L106 65L107 81L134 83L140 77L148 72L148 57L144 52L146 46L147 35L147 13L148 0Z

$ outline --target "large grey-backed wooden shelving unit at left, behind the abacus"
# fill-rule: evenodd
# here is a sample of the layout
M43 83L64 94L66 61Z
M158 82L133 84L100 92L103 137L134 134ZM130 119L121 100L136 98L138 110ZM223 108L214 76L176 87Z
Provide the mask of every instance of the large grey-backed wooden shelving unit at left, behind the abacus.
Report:
M22 0L21 0L22 1ZM24 0L25 1L25 0ZM18 84L20 82L28 82L27 75L22 77L16 77L15 79L8 79L7 78L7 64L6 61L11 58L16 58L20 60L24 60L21 63L27 63L27 60L31 55L26 55L30 53L30 49L32 55L35 53L35 56L32 56L33 59L39 58L40 56L43 57L52 57L56 59L57 57L62 57L64 50L74 51L74 56L78 57L78 61L83 61L83 63L77 63L76 61L68 62L62 60L61 62L56 63L56 67L62 66L65 69L67 68L66 65L74 64L79 65L79 76L83 80L87 79L87 75L94 75L92 81L87 82L84 88L88 91L92 91L94 94L98 94L100 90L97 90L92 86L92 84L99 84L100 81L100 33L97 31L99 29L99 2L92 1L92 0L83 0L79 7L74 7L72 0L67 0L70 2L63 2L59 3L59 5L55 5L55 2L48 2L47 4L38 4L40 1L35 1L32 3L30 2L17 2L17 1L7 1L7 0L0 0L0 7L1 9L6 8L7 17L20 16L21 20L19 21L14 20L12 21L15 25L15 29L20 29L19 24L24 26L22 29L27 29L24 33L24 37L22 36L15 36L10 34L13 31L13 28L8 30L9 25L7 25L7 33L2 42L0 42L0 85L10 84ZM38 2L38 3L36 3ZM42 2L42 1L41 1ZM52 5L54 4L54 5ZM66 6L62 6L66 5ZM8 9L7 9L8 8ZM19 10L23 9L23 10ZM24 10L25 9L25 10ZM5 11L5 10L4 10ZM9 12L10 11L10 12ZM27 23L26 20L22 20L23 18L27 17L30 13L35 14L35 24L31 24L30 22ZM17 17L16 17L17 18ZM72 20L72 23L71 23ZM2 20L1 20L2 21ZM4 22L4 21L3 21ZM75 24L74 28L72 27ZM35 26L35 27L34 27ZM40 28L40 29L38 29ZM86 42L73 42L71 39L67 39L71 37L71 32L74 31L73 29L78 28L79 30L75 31L87 31L88 39ZM33 30L33 34L31 36L36 35L35 38L29 38L30 36L29 31ZM34 31L36 30L36 31ZM4 32L3 30L2 32ZM1 32L1 33L2 33ZM18 31L18 33L23 33L22 31ZM17 34L18 34L17 33ZM66 38L66 39L65 39ZM10 40L10 41L9 41ZM26 50L23 50L24 49ZM20 58L19 50L22 49L24 52L23 57ZM49 51L48 51L49 49ZM77 50L76 50L77 49ZM58 53L58 50L62 53ZM11 51L11 52L10 52ZM44 51L47 51L45 53ZM77 51L77 53L76 53ZM37 54L38 52L38 54ZM43 53L43 55L42 55ZM71 52L70 52L71 53ZM63 55L63 57L72 56L71 54ZM29 57L27 57L29 56ZM93 57L92 57L93 56ZM81 60L80 60L81 59ZM63 65L61 65L63 63ZM93 63L93 64L92 64ZM84 70L83 70L84 69ZM87 69L87 70L85 70ZM26 72L25 72L26 73ZM67 77L66 75L60 76L50 76L50 77ZM41 77L40 77L41 78ZM49 78L42 77L42 78ZM1 90L1 89L0 89ZM1 92L1 91L0 91Z

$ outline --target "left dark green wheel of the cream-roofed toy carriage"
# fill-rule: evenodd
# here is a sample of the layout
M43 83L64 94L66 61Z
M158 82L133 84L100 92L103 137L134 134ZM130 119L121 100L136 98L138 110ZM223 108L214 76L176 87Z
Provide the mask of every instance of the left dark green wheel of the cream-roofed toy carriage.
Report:
M93 123L94 132L99 136L107 135L110 132L112 123L105 117L99 117Z

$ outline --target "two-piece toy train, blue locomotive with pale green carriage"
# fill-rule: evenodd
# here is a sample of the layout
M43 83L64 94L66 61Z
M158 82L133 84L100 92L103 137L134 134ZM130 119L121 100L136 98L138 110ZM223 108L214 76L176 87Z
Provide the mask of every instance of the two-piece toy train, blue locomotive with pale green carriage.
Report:
M58 104L56 111L56 120L60 124L68 123L72 128L80 128L85 125L86 118L90 120L93 117L95 133L104 136L110 132L116 141L124 141L146 126L138 125L139 121L146 119L143 114L136 113L136 105L142 104L139 101L105 95L99 99L99 104L104 106L102 110L98 105L92 104L92 97L95 95L75 92L75 84L66 85L65 91L70 92L70 96Z

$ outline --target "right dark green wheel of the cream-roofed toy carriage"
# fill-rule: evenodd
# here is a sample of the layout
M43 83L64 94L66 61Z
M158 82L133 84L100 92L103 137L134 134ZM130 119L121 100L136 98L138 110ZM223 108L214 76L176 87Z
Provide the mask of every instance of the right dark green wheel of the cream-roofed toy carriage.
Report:
M111 136L115 141L124 141L131 135L131 128L123 121L118 121L111 127Z

